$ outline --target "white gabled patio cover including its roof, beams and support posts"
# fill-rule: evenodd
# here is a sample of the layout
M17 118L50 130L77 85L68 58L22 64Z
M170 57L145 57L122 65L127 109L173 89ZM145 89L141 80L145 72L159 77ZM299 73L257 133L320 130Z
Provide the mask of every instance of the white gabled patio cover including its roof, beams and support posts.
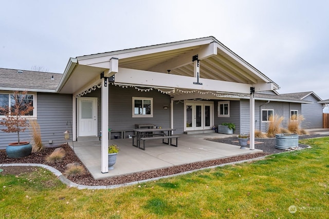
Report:
M279 89L271 79L209 36L70 58L57 92L70 93L76 98L101 85L101 130L107 130L107 83L177 91L167 92L173 96L171 105L175 100L196 98L196 95L200 98L217 93L249 95L251 150L254 150L253 94ZM173 121L173 112L170 120ZM76 117L73 124L73 136L76 136ZM108 172L107 148L108 132L102 132L102 173Z

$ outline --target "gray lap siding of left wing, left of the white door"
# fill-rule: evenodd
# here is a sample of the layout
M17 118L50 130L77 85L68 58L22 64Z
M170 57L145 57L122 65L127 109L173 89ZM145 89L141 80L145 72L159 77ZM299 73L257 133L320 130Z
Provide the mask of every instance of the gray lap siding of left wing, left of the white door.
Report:
M72 122L72 95L38 93L36 95L37 121L40 125L41 139L44 145L60 145L65 142L64 134L68 127L70 133L70 123ZM71 135L70 135L71 138ZM20 133L21 141L31 141L30 130ZM0 149L5 149L8 143L17 142L17 133L5 133L0 131Z

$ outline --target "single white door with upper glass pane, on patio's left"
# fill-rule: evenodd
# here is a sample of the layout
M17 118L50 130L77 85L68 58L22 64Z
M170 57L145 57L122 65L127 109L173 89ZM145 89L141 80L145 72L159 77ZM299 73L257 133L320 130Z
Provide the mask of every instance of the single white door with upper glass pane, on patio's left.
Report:
M78 98L78 137L97 136L97 98Z

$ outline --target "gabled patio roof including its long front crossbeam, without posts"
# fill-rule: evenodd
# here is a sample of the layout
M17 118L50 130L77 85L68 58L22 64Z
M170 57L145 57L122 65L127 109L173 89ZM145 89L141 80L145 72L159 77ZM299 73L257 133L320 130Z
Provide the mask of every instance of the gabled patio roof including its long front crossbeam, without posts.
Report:
M217 86L218 84L209 87L180 85L185 81L181 78L189 77L193 80L192 56L194 55L198 55L197 59L200 61L200 81L205 81L204 85L208 86L214 81L222 82L221 86ZM92 85L100 84L100 74L102 72L106 74L111 68L109 64L111 58L118 59L120 70L115 75L116 83L155 87L162 85L180 88L182 91L203 90L228 93L249 93L249 87L256 87L256 92L279 89L279 86L271 79L217 41L216 38L209 36L70 58L58 92L75 94ZM132 69L135 71L130 71L129 76L122 73ZM108 76L113 74L109 73ZM132 78L131 75L136 78ZM144 77L153 79L165 77L167 79L165 81L169 83L168 86L165 86L163 79L159 79L161 83L157 81L146 83ZM242 85L246 86L241 87ZM261 88L258 89L258 86ZM239 90L240 87L241 90ZM173 95L177 95L177 93Z

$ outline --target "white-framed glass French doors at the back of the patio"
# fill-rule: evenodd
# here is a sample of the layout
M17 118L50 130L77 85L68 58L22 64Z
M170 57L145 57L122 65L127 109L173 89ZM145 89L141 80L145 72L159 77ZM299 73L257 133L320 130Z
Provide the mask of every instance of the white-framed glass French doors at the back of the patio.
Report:
M185 131L211 129L213 124L212 102L185 102Z

